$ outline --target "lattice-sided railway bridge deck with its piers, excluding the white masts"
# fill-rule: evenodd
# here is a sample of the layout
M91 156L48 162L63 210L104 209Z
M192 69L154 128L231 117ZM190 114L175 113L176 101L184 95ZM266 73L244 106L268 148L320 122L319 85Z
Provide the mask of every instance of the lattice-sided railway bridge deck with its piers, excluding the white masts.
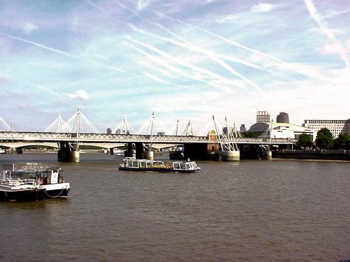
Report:
M241 156L253 155L262 157L264 151L271 147L293 147L293 139L266 138L234 138L233 143ZM215 159L223 150L223 145L232 141L227 136L215 131L208 136L162 136L162 135L134 135L134 134L106 134L106 133L55 133L55 132L27 132L0 131L0 147L20 150L31 145L46 145L57 147L58 161L79 161L79 146L92 145L111 150L125 146L125 156L136 152L137 158L142 158L155 148L176 147L181 145L185 159ZM253 152L253 153L252 153ZM176 152L173 152L176 153Z

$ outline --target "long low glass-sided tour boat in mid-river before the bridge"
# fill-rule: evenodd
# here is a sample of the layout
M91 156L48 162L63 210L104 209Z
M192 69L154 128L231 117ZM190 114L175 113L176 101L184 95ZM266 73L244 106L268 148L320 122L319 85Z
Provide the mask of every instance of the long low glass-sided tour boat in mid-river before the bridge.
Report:
M120 164L119 170L127 171L151 171L151 172L179 172L191 173L200 170L195 161L175 161L165 163L158 160L136 159L135 157L125 157Z

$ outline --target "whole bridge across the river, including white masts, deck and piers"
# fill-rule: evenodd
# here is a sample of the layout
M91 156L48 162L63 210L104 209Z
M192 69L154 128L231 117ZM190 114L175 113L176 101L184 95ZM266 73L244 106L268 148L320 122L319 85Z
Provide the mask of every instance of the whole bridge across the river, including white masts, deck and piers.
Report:
M153 158L152 150L159 147L176 147L183 146L183 157L190 159L207 159L208 156L217 155L223 151L239 151L246 152L247 146L253 148L253 151L258 152L262 149L268 151L274 145L276 147L292 146L296 142L292 139L276 139L276 138L239 138L233 136L230 129L225 134L218 128L215 119L214 126L216 130L209 131L207 136L195 136L190 129L190 122L186 126L186 135L165 136L164 134L153 134L153 124L155 115L153 113L148 122L148 127L151 128L151 134L131 134L129 124L126 119L123 120L123 133L80 133L83 128L80 110L70 121L74 121L75 126L71 132L65 132L64 123L59 115L56 119L56 131L0 131L0 146L11 148L23 148L30 145L46 145L59 148L58 161L79 161L79 146L92 145L105 149L113 149L125 145L125 156L132 155L133 150L136 150L138 158ZM86 121L86 119L85 119ZM52 126L52 123L50 126ZM160 146L162 145L162 146ZM262 150L264 151L264 150ZM150 155L152 154L152 155ZM237 159L236 159L237 160Z

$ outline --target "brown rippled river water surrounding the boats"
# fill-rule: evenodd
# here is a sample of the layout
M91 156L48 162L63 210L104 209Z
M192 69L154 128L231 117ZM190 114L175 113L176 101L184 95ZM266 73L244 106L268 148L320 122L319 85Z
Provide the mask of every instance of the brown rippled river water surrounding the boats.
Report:
M350 163L200 161L198 173L119 171L122 159L3 154L63 168L68 200L0 203L0 261L350 260Z

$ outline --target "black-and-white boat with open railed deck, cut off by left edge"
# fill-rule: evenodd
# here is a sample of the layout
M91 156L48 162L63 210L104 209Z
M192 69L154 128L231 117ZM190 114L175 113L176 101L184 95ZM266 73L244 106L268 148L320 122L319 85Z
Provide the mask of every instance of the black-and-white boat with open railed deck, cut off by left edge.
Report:
M68 198L70 191L61 168L4 170L0 180L0 201L29 202L44 198Z

